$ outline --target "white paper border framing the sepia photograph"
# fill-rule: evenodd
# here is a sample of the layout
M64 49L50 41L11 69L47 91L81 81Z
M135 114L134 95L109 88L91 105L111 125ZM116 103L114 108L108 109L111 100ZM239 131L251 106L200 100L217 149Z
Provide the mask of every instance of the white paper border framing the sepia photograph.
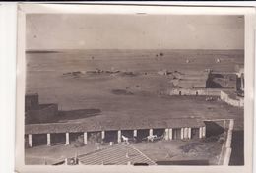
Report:
M26 82L25 48L27 14L164 14L164 15L244 15L245 19L245 100L244 100L244 166L51 166L25 165L24 158L24 95ZM77 5L77 4L20 4L18 5L17 43L17 98L16 98L16 150L17 172L196 172L196 173L250 173L252 172L252 139L254 114L254 7L186 7L186 6L135 6L135 5Z

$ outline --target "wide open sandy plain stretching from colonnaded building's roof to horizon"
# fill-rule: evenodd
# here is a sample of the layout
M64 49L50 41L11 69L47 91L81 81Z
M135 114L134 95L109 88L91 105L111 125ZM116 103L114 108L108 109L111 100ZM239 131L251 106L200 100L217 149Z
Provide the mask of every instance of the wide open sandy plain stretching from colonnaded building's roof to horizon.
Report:
M182 73L202 72L207 68L234 71L243 64L242 51L211 50L88 50L62 53L27 54L28 92L37 92L40 103L58 103L60 110L97 109L100 116L126 121L138 118L235 118L243 129L243 110L221 101L207 102L205 97L164 97L161 91L172 87L168 76L158 71L168 69ZM92 56L94 59L92 59ZM187 58L193 59L187 64ZM216 64L215 59L223 59ZM89 70L121 70L147 75L82 75L65 76L63 73ZM113 90L127 90L133 94L116 94ZM72 120L71 120L72 119ZM86 119L85 119L86 120ZM63 120L67 121L67 120ZM69 121L83 121L70 118Z

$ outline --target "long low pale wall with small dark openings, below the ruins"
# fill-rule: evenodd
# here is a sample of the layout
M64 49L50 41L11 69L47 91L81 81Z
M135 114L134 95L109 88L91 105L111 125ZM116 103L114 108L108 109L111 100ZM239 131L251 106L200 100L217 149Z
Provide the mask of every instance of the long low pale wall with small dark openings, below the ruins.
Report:
M174 88L169 91L169 95L209 95L220 96L220 89L213 88Z

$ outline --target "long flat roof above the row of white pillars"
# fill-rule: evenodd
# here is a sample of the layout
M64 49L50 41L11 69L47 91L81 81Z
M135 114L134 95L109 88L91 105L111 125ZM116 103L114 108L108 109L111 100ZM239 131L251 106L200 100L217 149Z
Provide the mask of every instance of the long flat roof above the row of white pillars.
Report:
M182 127L202 127L205 126L200 119L179 119L168 120L130 120L118 121L116 118L109 121L92 119L81 123L47 123L25 125L25 134L46 134L46 133L66 133L66 132L95 132L109 130L134 130L134 129L161 129L161 128L182 128Z

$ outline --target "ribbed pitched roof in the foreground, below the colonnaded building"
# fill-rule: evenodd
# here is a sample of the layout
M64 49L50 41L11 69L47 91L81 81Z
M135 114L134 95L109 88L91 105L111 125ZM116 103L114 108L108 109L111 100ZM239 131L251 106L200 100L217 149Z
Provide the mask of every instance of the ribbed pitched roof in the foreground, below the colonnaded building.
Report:
M78 156L79 162L85 165L127 165L135 163L146 163L156 165L156 163L135 148L132 144L113 144L106 148L96 150Z

